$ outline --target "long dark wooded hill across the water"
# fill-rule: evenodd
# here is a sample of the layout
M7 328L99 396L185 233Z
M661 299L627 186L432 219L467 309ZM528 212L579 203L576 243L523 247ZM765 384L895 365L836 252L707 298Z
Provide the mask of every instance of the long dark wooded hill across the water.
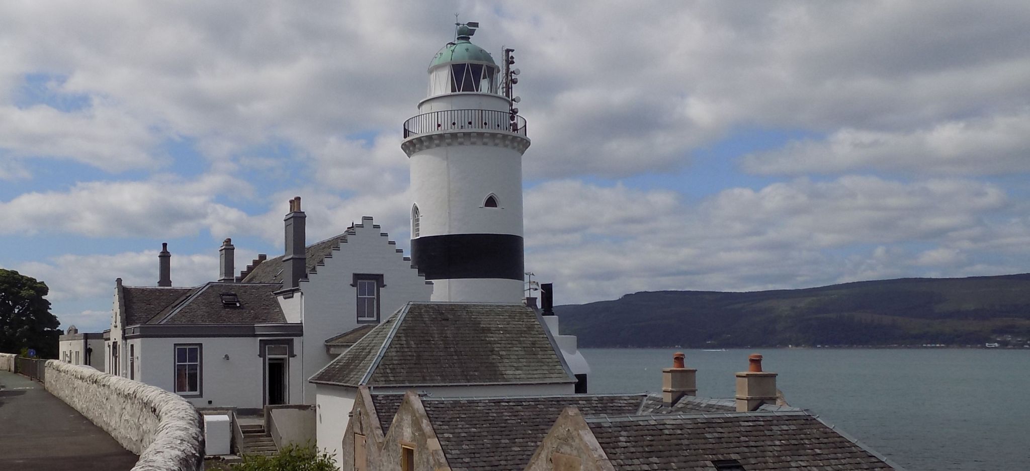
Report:
M555 306L581 347L984 345L1030 338L1030 274L730 293L654 291Z

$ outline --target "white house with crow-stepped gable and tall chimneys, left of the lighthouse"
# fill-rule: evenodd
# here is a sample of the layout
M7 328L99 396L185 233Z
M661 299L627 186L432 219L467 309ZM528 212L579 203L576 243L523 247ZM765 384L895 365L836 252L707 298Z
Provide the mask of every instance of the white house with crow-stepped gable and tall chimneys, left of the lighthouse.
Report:
M172 287L167 245L159 286L117 280L108 371L198 406L313 404L306 379L332 360L327 340L428 300L433 286L372 218L312 245L304 221L291 200L286 253L260 256L239 277L227 239L217 282Z

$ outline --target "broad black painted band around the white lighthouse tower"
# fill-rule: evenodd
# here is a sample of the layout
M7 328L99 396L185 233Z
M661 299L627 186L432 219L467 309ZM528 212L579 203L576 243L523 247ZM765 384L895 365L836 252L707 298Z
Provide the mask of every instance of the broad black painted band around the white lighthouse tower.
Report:
M426 280L522 280L522 238L510 233L452 233L411 240L411 262Z

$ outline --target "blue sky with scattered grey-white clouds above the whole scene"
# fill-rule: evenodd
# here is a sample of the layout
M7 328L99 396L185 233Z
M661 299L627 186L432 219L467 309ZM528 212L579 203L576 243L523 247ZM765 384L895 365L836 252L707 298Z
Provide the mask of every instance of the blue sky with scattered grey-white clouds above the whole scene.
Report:
M0 267L63 327L373 216L453 39L515 48L556 303L1030 271L1030 2L0 2Z

